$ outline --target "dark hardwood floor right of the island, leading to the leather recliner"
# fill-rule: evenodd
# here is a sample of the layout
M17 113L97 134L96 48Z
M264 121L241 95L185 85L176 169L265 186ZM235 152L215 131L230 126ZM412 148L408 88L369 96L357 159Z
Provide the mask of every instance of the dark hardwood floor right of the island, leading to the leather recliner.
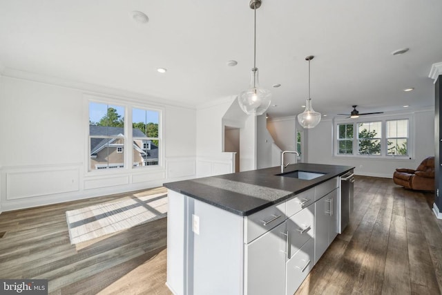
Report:
M354 213L298 294L441 294L442 220L433 193L357 176Z

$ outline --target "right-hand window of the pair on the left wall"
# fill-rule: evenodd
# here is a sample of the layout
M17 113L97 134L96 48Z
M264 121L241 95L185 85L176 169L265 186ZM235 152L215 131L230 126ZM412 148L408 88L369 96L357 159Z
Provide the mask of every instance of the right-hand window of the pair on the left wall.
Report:
M160 112L133 108L133 162L134 167L158 164Z

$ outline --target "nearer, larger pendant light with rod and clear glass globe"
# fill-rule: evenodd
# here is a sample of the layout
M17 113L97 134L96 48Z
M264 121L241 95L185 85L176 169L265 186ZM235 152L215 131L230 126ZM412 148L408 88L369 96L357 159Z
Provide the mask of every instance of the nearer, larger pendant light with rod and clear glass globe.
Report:
M253 44L253 68L249 89L238 95L238 103L247 115L262 115L270 106L271 93L267 89L260 88L258 80L258 68L256 68L256 10L261 6L261 0L251 0L249 3L255 14L254 44Z

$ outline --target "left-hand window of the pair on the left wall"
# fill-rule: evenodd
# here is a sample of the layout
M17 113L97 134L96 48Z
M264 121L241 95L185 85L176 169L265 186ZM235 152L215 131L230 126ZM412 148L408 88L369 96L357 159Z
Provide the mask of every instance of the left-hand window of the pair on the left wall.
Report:
M89 103L89 170L124 168L124 106Z

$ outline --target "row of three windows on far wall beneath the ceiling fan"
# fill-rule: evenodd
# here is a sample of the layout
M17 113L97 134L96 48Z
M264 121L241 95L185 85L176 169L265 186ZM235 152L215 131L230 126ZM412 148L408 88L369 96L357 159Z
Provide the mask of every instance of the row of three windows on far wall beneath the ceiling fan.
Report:
M410 158L410 117L335 123L335 155Z

